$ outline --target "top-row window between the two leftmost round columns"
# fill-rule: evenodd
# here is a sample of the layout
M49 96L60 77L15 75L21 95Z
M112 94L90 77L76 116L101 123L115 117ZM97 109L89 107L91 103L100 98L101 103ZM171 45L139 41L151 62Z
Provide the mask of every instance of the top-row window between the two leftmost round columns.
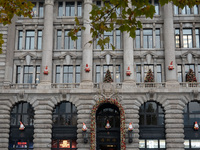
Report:
M58 2L58 16L82 16L82 2Z

